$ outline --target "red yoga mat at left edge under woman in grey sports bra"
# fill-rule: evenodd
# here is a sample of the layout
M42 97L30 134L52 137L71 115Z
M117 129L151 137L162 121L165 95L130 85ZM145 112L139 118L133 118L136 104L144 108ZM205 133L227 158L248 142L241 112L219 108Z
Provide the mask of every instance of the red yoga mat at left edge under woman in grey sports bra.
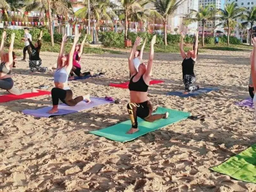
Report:
M49 91L42 91L42 90L37 90L37 91L38 91L37 93L24 93L22 95L13 95L13 94L0 95L0 103L51 94L51 92Z

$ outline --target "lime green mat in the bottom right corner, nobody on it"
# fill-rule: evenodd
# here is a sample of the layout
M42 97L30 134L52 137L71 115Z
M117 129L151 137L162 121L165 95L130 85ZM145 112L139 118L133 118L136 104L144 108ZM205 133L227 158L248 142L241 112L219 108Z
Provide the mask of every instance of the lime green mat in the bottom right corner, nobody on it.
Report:
M230 157L224 163L210 168L237 180L256 183L256 144Z

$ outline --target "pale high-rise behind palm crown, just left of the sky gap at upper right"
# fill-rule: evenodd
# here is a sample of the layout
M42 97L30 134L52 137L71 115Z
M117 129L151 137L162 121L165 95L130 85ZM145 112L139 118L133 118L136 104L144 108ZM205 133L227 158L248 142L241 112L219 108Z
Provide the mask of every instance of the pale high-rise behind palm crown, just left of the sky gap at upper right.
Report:
M217 9L221 9L221 0L198 0L198 4L199 6L206 6L206 5L210 5L212 4L213 6L215 6ZM219 24L220 21L218 20L214 20L214 21L207 21L205 24L205 31L212 31L213 28ZM198 28L199 31L202 30L203 24L201 21L198 22ZM216 30L215 30L216 31Z

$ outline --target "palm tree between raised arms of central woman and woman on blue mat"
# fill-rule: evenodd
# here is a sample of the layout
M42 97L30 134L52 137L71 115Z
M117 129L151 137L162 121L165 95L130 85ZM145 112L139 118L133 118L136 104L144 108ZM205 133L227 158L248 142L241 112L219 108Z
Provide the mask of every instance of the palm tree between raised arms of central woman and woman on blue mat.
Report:
M167 20L173 15L174 11L181 5L185 0L155 0L152 1L155 6L155 14L158 18L161 18L164 23L164 44L167 45Z

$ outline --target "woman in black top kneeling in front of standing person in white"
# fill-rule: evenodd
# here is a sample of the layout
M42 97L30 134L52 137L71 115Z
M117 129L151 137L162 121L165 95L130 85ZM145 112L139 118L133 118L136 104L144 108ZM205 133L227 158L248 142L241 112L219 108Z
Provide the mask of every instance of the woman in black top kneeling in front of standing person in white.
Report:
M28 32L25 32L25 34L28 35ZM47 67L41 67L42 60L39 57L39 53L40 53L41 46L42 46L42 42L41 42L42 37L43 37L43 31L40 31L40 35L39 35L35 45L33 45L31 40L28 38L28 42L31 47L31 54L30 54L30 58L29 58L29 68L32 73L36 72L36 71L45 73L47 71Z

